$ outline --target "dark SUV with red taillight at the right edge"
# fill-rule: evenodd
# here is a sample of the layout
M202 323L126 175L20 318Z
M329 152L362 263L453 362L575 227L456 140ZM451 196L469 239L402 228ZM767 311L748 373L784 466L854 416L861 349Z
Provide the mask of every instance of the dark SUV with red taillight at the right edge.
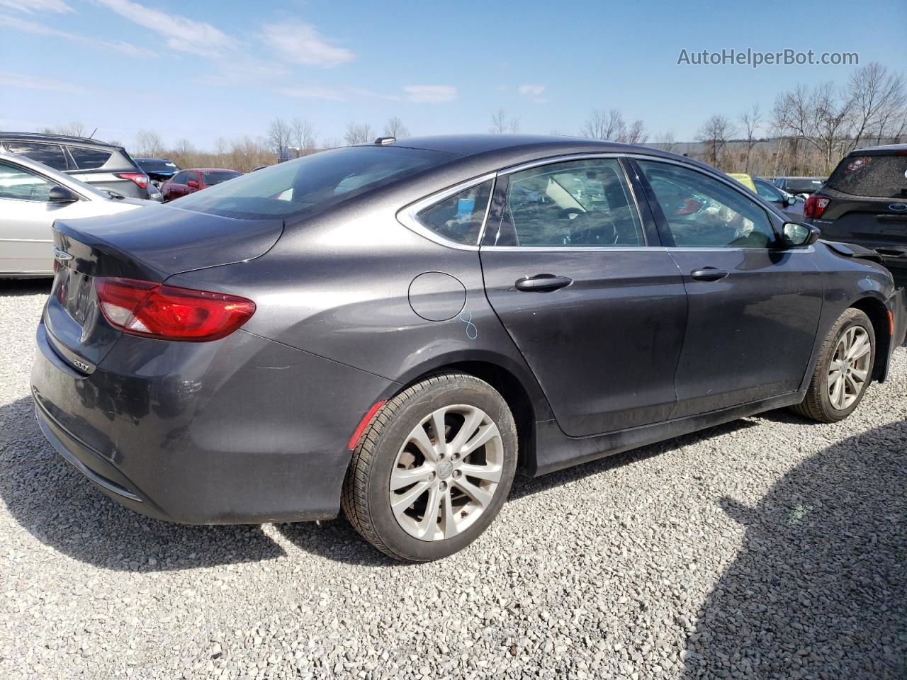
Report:
M873 249L907 286L907 144L851 151L803 214L823 238Z

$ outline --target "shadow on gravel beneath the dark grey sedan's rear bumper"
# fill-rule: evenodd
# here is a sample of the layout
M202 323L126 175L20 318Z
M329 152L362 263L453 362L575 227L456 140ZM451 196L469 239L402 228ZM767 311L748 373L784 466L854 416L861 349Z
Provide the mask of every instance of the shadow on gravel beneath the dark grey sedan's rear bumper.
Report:
M0 407L0 496L35 538L100 568L213 567L286 554L259 526L172 524L123 508L54 452L27 398Z

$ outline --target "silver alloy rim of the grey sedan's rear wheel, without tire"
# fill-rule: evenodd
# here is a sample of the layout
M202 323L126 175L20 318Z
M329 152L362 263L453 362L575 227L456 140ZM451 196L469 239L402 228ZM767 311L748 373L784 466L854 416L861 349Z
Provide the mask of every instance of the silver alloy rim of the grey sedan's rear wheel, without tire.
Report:
M494 497L503 471L501 432L467 404L427 415L397 452L390 478L391 510L420 540L443 540L468 529Z

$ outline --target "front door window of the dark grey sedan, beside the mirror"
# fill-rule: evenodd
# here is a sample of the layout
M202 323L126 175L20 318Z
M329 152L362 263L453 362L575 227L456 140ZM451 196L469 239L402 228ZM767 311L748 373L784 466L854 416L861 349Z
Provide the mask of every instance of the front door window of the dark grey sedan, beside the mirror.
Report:
M639 167L655 192L678 248L769 248L766 211L740 191L697 170L654 160Z

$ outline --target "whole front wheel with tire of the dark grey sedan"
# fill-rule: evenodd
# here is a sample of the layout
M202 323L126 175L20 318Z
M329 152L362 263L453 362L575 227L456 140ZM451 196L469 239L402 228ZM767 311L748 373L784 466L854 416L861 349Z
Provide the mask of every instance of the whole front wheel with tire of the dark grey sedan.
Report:
M825 337L803 402L791 410L819 423L843 420L863 401L874 364L873 323L859 309L847 309Z

